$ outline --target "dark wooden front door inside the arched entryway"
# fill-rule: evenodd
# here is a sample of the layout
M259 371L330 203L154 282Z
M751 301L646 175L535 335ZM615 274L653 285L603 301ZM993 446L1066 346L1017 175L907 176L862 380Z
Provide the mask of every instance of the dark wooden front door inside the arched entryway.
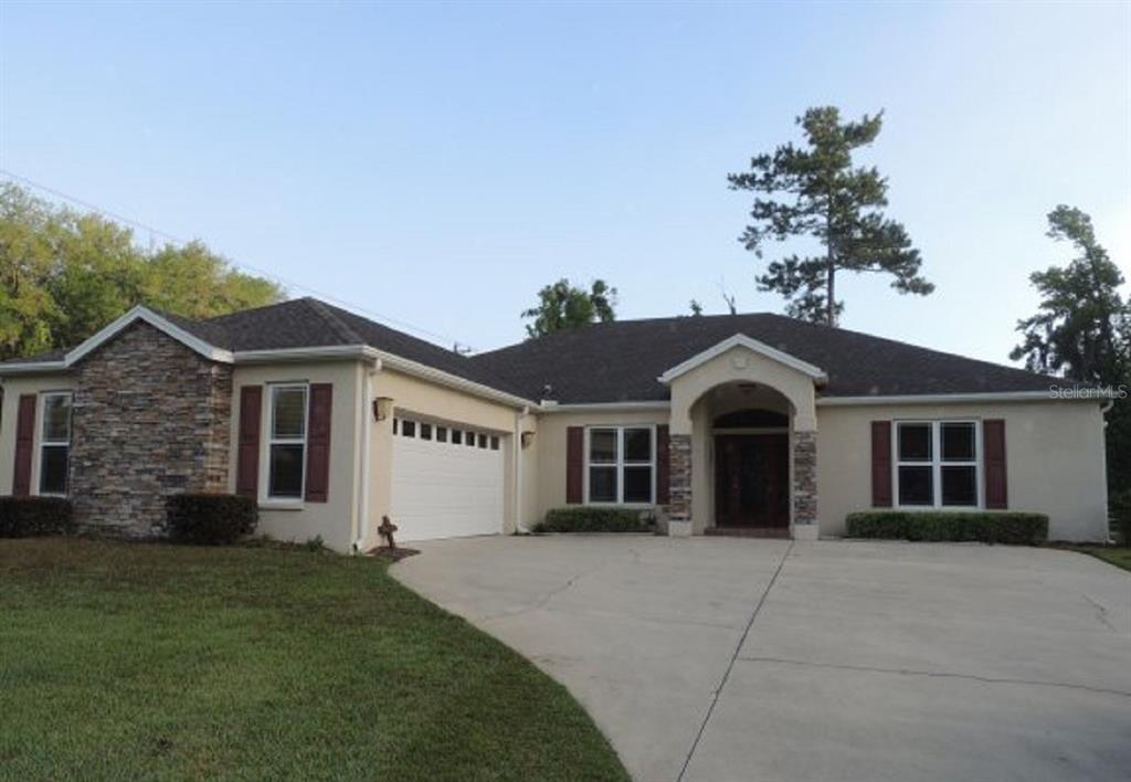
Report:
M789 526L789 436L715 436L715 525Z

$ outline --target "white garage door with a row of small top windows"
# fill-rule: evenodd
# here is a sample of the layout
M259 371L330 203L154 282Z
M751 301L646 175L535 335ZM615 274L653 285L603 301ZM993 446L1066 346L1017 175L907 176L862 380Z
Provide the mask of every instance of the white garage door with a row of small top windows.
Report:
M398 539L501 533L502 474L498 436L396 421L391 507Z

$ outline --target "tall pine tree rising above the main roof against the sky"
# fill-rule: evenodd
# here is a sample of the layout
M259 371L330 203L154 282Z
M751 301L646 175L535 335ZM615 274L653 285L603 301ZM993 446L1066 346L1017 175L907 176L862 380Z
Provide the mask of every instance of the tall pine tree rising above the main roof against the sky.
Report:
M856 167L852 153L880 134L883 112L840 122L835 106L810 109L797 118L806 146L779 146L750 161L750 171L728 174L732 190L751 190L753 223L739 238L762 257L767 240L812 237L821 255L792 255L771 261L758 276L762 291L782 294L795 317L836 326L844 302L836 297L838 272L873 272L893 277L899 293L926 295L934 285L920 275L922 258L906 229L888 220L888 181L875 167Z

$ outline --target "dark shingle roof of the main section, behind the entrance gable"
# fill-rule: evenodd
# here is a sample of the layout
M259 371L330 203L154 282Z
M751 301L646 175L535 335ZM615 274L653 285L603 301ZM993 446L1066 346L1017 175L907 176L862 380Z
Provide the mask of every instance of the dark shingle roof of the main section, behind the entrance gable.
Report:
M621 320L559 332L474 361L518 393L561 404L659 401L665 370L744 334L823 369L822 396L1046 390L1048 378L780 315ZM550 392L544 386L550 385Z

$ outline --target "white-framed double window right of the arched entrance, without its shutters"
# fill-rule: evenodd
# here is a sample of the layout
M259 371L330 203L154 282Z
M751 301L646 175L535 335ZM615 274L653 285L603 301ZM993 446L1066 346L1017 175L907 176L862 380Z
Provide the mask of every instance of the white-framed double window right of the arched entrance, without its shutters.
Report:
M897 505L978 506L978 428L974 421L896 426Z

